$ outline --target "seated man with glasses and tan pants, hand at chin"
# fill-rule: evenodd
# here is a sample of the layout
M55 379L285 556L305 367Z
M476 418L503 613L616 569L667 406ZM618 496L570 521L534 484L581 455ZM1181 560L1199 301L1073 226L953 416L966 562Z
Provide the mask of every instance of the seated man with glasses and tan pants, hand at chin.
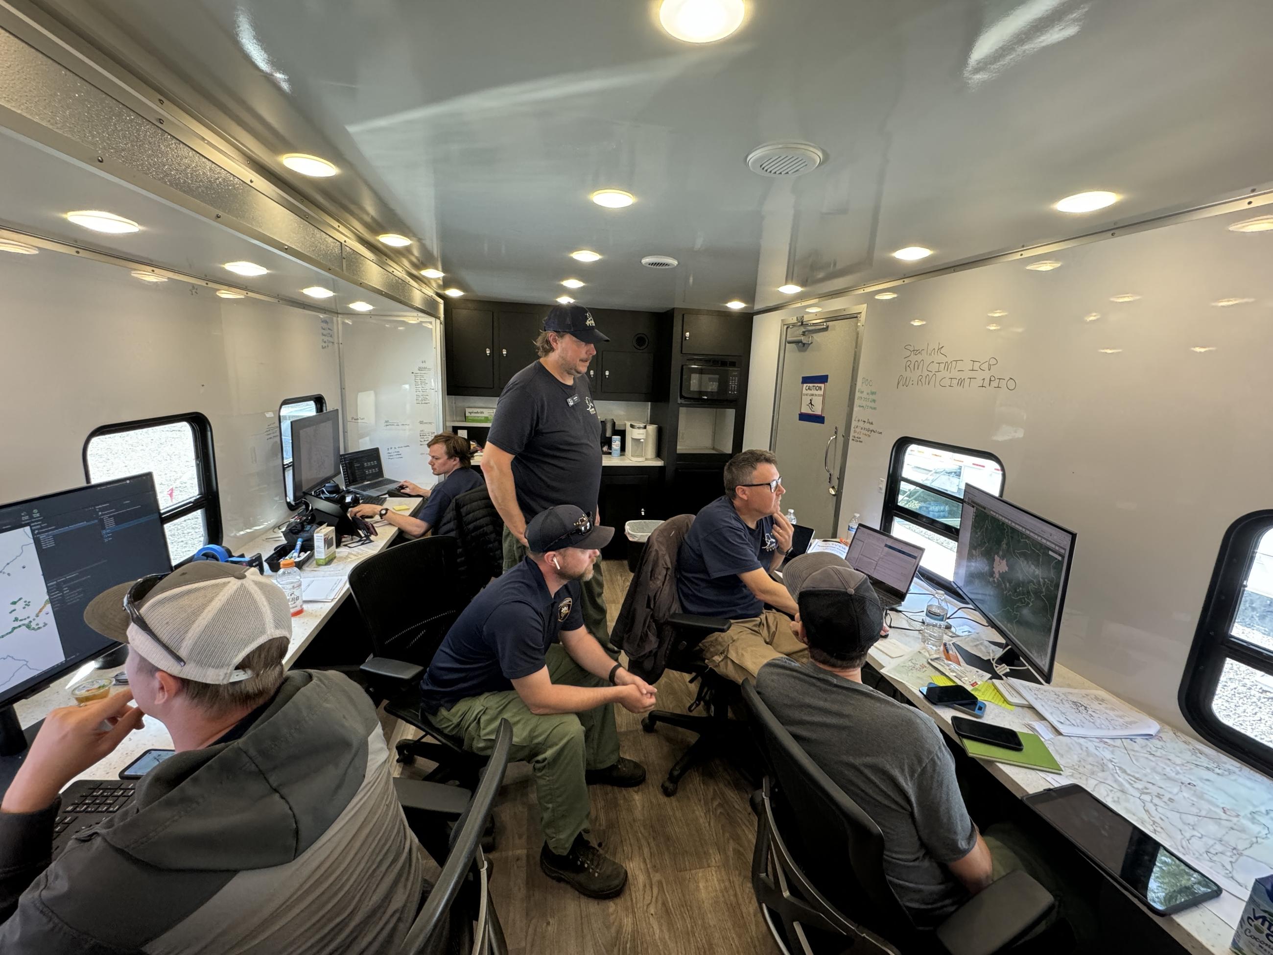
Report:
M782 512L785 493L771 453L735 455L724 466L724 495L699 511L676 555L681 609L733 621L707 637L699 652L735 683L755 679L775 657L808 658L792 634L796 601L769 576L792 548L792 525Z

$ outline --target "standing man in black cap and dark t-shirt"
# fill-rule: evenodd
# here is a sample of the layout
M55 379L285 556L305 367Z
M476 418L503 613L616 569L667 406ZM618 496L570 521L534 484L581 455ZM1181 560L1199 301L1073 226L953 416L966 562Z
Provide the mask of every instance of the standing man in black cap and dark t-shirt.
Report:
M583 306L556 306L535 340L540 359L500 392L481 470L504 518L504 569L526 556L526 522L555 504L600 521L601 419L588 388L588 363L610 341ZM616 657L606 625L602 574L580 583L584 625Z

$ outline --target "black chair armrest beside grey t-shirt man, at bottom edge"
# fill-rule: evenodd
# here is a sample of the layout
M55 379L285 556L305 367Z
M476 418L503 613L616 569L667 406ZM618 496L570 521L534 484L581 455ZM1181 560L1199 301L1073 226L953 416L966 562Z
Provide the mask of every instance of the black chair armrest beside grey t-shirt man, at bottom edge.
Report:
M1022 870L1008 872L937 927L951 955L993 955L1044 921L1057 900Z

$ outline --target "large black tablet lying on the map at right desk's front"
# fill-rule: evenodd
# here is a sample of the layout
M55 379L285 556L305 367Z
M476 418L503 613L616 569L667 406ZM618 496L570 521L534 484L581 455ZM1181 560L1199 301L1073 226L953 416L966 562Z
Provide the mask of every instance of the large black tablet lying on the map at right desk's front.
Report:
M1023 801L1160 916L1221 894L1216 882L1081 786L1058 786Z

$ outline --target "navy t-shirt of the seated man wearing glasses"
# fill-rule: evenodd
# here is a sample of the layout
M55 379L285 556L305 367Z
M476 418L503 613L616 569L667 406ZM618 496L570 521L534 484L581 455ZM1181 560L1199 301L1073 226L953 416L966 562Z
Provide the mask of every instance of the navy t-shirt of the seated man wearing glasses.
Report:
M681 609L732 620L759 616L764 605L738 574L769 567L778 549L773 528L773 517L747 527L724 495L699 511L676 555Z

